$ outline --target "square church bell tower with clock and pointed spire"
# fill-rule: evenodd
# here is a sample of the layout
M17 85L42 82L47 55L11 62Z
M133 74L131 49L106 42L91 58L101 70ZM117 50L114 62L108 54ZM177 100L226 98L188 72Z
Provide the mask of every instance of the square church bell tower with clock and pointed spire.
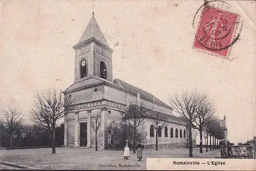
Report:
M112 82L112 52L93 16L75 49L75 79L82 81L93 76Z

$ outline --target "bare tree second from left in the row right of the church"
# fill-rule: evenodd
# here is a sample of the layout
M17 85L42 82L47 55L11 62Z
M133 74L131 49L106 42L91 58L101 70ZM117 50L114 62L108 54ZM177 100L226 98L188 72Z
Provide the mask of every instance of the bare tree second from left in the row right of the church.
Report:
M199 105L196 109L197 115L195 118L195 129L199 131L200 135L200 153L203 153L203 130L208 121L214 116L216 112L215 103L206 95L200 95Z

